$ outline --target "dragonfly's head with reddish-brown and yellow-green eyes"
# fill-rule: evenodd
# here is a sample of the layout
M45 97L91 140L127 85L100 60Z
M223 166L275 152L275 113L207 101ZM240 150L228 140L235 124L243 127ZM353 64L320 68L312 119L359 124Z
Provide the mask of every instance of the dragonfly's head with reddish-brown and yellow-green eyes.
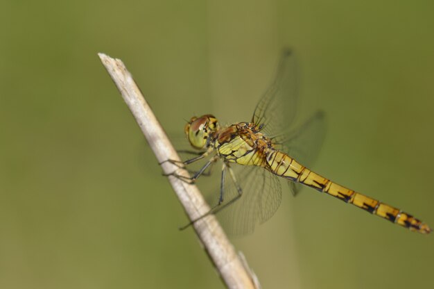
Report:
M209 136L217 130L218 122L214 115L191 117L184 127L185 134L195 149L204 149L207 146Z

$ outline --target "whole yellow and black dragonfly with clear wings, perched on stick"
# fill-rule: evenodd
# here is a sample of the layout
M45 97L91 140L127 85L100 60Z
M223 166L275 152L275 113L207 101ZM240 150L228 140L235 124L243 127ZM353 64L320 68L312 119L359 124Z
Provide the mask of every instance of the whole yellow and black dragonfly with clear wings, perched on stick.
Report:
M430 233L430 227L413 215L350 190L306 167L318 155L324 138L324 113L315 113L298 129L292 129L297 103L296 67L293 51L286 49L275 79L254 109L250 122L220 126L218 119L208 114L191 117L186 123L184 133L189 145L196 149L189 153L196 156L182 162L168 161L179 167L206 161L191 177L176 172L171 175L196 183L200 176L211 172L218 160L223 165L216 204L180 229L224 210L227 213L221 214L220 220L229 233L250 233L257 223L268 220L279 208L283 181L294 195L301 185L306 185L410 231Z

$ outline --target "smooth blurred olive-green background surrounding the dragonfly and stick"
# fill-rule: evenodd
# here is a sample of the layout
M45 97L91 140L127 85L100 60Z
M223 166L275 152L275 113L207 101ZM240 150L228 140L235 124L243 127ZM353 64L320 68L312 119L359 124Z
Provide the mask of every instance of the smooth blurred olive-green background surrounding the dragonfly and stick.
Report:
M235 3L234 3L235 2ZM222 288L96 56L168 132L243 121L281 47L313 169L434 225L433 1L0 1L0 288ZM234 244L263 288L434 288L434 236L306 189Z

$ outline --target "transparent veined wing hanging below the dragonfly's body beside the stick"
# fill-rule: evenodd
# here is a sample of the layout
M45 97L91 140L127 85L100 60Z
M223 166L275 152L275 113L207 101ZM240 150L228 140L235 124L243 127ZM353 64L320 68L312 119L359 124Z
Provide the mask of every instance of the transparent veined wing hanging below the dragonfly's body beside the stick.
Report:
M258 223L266 222L275 214L281 203L281 184L274 174L262 167L230 165L236 175L236 181L243 190L243 195L230 206L216 214L218 220L229 235L252 233ZM224 206L238 195L236 185L227 172L225 174ZM214 193L211 206L217 204L219 192Z

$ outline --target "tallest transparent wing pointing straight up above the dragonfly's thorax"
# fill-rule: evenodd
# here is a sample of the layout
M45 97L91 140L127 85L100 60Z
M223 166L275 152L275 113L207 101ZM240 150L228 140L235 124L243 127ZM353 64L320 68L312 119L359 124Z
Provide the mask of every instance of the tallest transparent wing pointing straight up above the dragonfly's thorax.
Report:
M252 122L272 137L286 131L295 119L297 109L297 63L293 52L284 50L274 81L254 110Z

